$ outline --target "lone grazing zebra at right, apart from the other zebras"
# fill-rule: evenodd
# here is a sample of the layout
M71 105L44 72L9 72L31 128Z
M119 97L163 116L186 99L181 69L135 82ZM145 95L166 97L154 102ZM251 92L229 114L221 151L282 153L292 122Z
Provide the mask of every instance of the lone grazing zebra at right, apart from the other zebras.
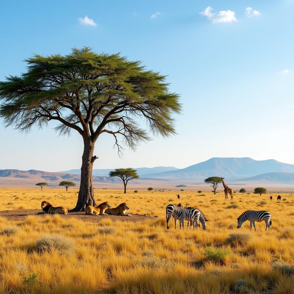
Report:
M266 227L265 230L268 228L270 230L270 226L272 225L272 217L270 215L269 211L266 210L261 210L261 211L256 211L256 210L247 210L243 212L238 218L238 226L237 228L242 228L243 223L246 220L250 221L250 230L252 229L252 224L253 227L256 231L255 228L255 222L257 221L258 223L262 222L263 220L265 221Z

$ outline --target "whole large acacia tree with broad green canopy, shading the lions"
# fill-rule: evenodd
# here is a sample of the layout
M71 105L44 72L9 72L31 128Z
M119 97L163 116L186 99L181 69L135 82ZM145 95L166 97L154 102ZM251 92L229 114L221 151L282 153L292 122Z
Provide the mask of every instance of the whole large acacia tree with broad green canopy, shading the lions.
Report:
M60 135L78 132L83 140L81 184L76 207L96 206L92 170L94 145L101 134L113 136L118 154L149 140L148 130L175 134L179 95L169 92L165 76L119 54L96 54L89 47L61 56L35 54L27 71L0 82L0 116L22 132L55 122ZM141 118L144 118L145 123ZM140 127L140 124L142 127ZM123 143L120 143L120 142Z

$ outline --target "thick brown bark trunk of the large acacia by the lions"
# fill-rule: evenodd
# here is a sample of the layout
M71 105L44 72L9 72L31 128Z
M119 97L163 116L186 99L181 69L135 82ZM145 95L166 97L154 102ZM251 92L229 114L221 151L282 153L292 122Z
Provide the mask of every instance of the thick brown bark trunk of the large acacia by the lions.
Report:
M92 205L97 206L94 198L93 189L93 164L96 156L93 157L94 143L91 138L84 138L84 152L82 156L82 167L81 167L81 184L78 192L78 202L76 207L71 211L85 211L86 206Z

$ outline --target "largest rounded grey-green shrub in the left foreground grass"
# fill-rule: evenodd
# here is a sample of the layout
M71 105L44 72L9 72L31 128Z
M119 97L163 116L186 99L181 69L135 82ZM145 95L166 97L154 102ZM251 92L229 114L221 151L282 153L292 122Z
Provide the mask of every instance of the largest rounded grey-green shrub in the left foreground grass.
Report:
M44 235L37 239L36 246L40 252L56 250L65 255L74 255L76 250L74 241L59 235Z

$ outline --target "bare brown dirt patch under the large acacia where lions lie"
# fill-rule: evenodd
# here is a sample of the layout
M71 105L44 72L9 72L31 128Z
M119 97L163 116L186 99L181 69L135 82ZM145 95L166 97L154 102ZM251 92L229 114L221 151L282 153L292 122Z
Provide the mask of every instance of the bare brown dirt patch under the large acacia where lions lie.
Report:
M16 209L16 210L4 210L0 211L0 216L7 218L7 220L11 221L19 221L26 219L27 216L36 215L40 218L46 216L46 214L37 214L40 210L39 209ZM59 214L60 217L70 219L70 218L77 218L84 221L90 221L98 223L101 220L110 219L112 221L120 220L126 222L138 222L146 219L152 219L155 217L152 216L144 216L141 214L132 214L131 216L89 216L86 215L84 212L69 212L68 214Z

